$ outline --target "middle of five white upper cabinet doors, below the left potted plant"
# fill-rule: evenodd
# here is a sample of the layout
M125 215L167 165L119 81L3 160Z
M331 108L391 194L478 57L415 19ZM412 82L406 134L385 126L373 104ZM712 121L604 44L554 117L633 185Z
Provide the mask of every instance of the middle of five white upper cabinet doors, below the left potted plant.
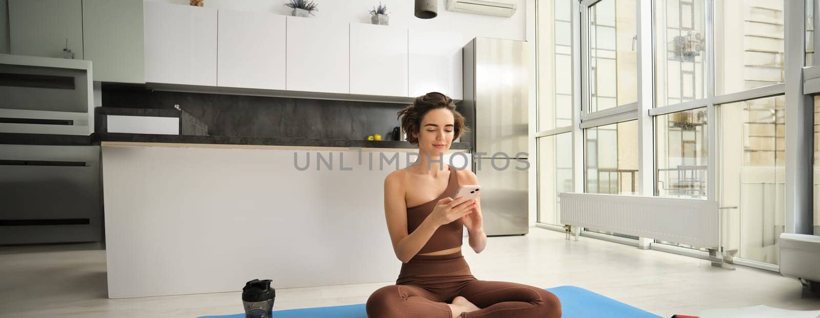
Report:
M287 89L350 93L350 25L287 18Z

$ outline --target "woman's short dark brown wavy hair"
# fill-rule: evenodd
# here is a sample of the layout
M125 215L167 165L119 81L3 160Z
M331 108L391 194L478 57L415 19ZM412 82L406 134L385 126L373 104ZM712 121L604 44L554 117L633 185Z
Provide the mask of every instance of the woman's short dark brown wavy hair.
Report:
M402 129L407 132L409 143L414 145L418 144L418 139L413 137L412 133L419 133L421 131L421 119L424 118L428 111L437 108L447 108L453 112L453 119L455 121L453 123L453 139L457 139L461 134L470 131L464 123L464 116L456 111L456 104L453 103L452 98L447 97L447 95L443 93L430 92L417 97L412 101L411 105L404 107L398 112L401 117L399 121L402 123Z

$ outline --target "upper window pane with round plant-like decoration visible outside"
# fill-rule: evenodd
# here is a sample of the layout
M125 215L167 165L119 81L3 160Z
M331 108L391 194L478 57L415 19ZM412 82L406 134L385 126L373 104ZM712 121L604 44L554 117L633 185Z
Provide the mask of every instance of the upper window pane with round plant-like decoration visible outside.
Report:
M654 11L656 107L704 98L704 1L656 1Z

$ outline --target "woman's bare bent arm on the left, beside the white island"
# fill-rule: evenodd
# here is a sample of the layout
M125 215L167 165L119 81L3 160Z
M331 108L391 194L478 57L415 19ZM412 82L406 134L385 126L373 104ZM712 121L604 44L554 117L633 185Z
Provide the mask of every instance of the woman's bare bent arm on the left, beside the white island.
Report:
M416 230L408 234L408 209L400 178L398 171L385 178L385 219L396 257L406 263L424 248L439 226L427 217Z

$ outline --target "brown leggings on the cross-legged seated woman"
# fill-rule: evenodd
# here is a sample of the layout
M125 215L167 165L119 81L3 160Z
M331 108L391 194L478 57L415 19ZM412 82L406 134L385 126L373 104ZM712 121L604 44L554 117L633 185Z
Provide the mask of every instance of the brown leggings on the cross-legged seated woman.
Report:
M553 293L525 284L476 279L460 251L417 255L402 263L396 284L376 289L367 299L367 316L453 318L447 303L456 296L481 308L463 313L463 318L561 316L561 302Z

